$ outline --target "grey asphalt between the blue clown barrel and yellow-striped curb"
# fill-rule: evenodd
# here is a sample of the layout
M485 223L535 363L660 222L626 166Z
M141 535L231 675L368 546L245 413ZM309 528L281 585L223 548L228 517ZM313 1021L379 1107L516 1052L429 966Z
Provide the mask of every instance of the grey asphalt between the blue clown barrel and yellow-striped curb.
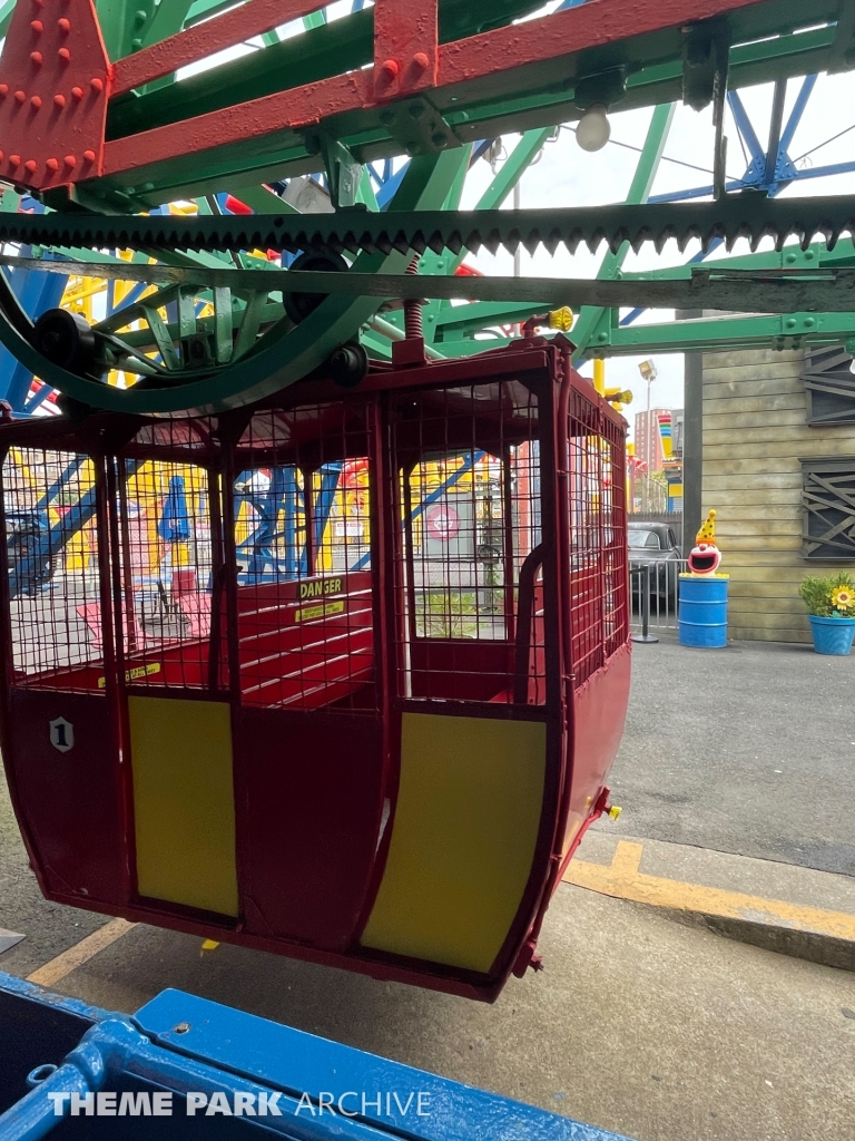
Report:
M855 875L855 654L634 646L610 783L604 831Z

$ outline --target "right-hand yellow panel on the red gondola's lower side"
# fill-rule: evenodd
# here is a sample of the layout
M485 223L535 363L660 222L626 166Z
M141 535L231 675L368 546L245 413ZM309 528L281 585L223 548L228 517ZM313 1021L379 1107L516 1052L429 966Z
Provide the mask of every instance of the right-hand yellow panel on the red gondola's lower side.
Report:
M405 713L392 841L363 945L489 971L526 890L546 726Z

